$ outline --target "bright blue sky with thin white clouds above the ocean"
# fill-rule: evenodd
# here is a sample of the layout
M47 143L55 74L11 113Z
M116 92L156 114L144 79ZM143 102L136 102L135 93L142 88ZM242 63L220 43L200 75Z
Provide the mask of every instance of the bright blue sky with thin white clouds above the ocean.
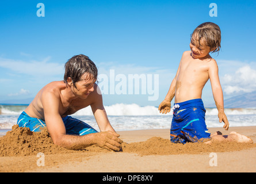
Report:
M209 16L212 2L217 17ZM44 3L45 17L37 17L37 3ZM103 94L105 105L158 106L189 50L190 34L207 21L221 29L221 51L212 57L224 98L253 92L255 18L254 0L1 1L0 102L35 97L47 83L63 79L70 57L83 53L100 74L159 76L158 99L148 101L148 93ZM214 103L209 82L202 99L205 106Z

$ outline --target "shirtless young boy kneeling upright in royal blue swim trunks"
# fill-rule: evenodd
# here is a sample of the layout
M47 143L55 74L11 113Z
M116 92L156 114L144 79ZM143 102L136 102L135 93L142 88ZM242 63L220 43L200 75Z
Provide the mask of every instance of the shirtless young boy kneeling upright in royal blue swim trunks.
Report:
M177 74L158 108L160 113L169 113L170 102L175 96L170 130L170 140L173 143L185 144L188 141L211 143L213 139L253 142L249 137L236 132L231 132L228 136L222 136L220 132L211 136L205 125L205 109L201 95L205 83L210 79L213 98L219 112L219 122L224 122L224 129L228 130L229 127L227 116L224 113L218 66L209 55L209 52L219 52L220 41L220 28L212 22L199 25L191 35L190 51L183 53Z

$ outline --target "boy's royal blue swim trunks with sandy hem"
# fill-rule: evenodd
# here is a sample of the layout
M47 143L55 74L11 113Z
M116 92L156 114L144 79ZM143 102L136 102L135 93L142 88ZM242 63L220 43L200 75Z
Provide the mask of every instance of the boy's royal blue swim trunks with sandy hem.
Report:
M174 104L170 140L173 143L205 142L211 140L205 124L205 109L202 99Z

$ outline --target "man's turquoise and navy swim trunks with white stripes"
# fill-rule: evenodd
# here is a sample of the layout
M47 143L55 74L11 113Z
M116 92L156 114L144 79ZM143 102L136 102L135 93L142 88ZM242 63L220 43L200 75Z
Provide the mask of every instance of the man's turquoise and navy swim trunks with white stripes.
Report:
M62 120L66 128L66 133L69 135L82 136L89 133L97 133L90 125L71 116L63 117ZM32 132L40 132L41 128L46 127L45 121L30 117L25 112L22 112L20 117L18 117L17 124L19 127L28 127Z

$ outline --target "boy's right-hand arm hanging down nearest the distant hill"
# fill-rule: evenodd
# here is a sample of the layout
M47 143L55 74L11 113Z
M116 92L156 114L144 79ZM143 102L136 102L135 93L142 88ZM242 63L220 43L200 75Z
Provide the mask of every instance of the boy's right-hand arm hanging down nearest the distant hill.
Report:
M226 114L224 113L223 91L220 85L219 69L215 60L212 60L208 70L209 79L212 86L212 94L218 110L219 122L224 122L223 128L228 130L229 122Z

